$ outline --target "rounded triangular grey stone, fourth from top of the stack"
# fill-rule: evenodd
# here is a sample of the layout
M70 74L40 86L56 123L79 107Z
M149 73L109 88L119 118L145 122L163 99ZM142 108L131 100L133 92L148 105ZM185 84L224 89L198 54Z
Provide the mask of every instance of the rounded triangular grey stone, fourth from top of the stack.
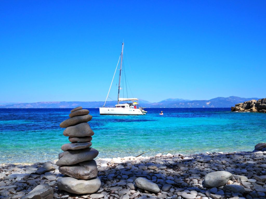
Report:
M87 122L77 124L75 126L67 127L64 132L64 136L70 137L84 137L84 136L93 136L94 132L90 128L90 125Z

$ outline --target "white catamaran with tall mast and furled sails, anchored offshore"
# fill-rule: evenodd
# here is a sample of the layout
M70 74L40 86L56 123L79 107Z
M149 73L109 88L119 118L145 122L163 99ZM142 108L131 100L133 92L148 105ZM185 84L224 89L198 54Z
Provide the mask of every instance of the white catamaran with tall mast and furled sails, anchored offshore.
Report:
M120 74L119 74L119 85L118 85L118 97L117 97L117 105L115 107L105 107L107 98L109 96L109 92L114 80L111 82L107 97L105 99L105 103L103 107L100 107L100 115L145 115L147 111L144 111L142 107L138 107L138 98L119 98L119 93L120 93L120 82L121 82L121 71L122 71L122 61L123 61L123 49L124 49L124 43L122 43L122 52L121 52L121 60L120 60ZM118 63L119 63L118 60ZM118 66L117 63L117 66ZM117 67L115 68L115 72L117 71ZM130 102L129 102L130 101ZM136 102L135 102L136 101ZM120 103L123 102L123 103Z

